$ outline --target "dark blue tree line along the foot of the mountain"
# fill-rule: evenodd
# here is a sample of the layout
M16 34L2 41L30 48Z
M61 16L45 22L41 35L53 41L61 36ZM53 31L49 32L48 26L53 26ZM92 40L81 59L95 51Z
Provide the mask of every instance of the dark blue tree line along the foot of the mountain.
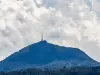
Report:
M0 72L0 75L100 75L100 67L74 67L62 69L29 68L20 71Z

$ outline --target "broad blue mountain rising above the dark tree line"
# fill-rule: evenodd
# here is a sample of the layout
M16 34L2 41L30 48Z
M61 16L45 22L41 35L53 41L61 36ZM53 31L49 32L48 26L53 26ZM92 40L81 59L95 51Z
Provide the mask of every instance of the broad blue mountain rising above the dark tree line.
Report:
M0 70L10 71L30 67L61 68L75 66L98 66L82 50L78 48L63 47L40 41L29 45L10 55L0 62Z

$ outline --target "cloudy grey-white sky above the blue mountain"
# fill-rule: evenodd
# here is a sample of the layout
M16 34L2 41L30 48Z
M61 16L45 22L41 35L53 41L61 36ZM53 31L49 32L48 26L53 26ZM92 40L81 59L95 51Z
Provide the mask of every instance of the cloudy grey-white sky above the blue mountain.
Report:
M100 0L0 0L0 60L44 39L100 62Z

